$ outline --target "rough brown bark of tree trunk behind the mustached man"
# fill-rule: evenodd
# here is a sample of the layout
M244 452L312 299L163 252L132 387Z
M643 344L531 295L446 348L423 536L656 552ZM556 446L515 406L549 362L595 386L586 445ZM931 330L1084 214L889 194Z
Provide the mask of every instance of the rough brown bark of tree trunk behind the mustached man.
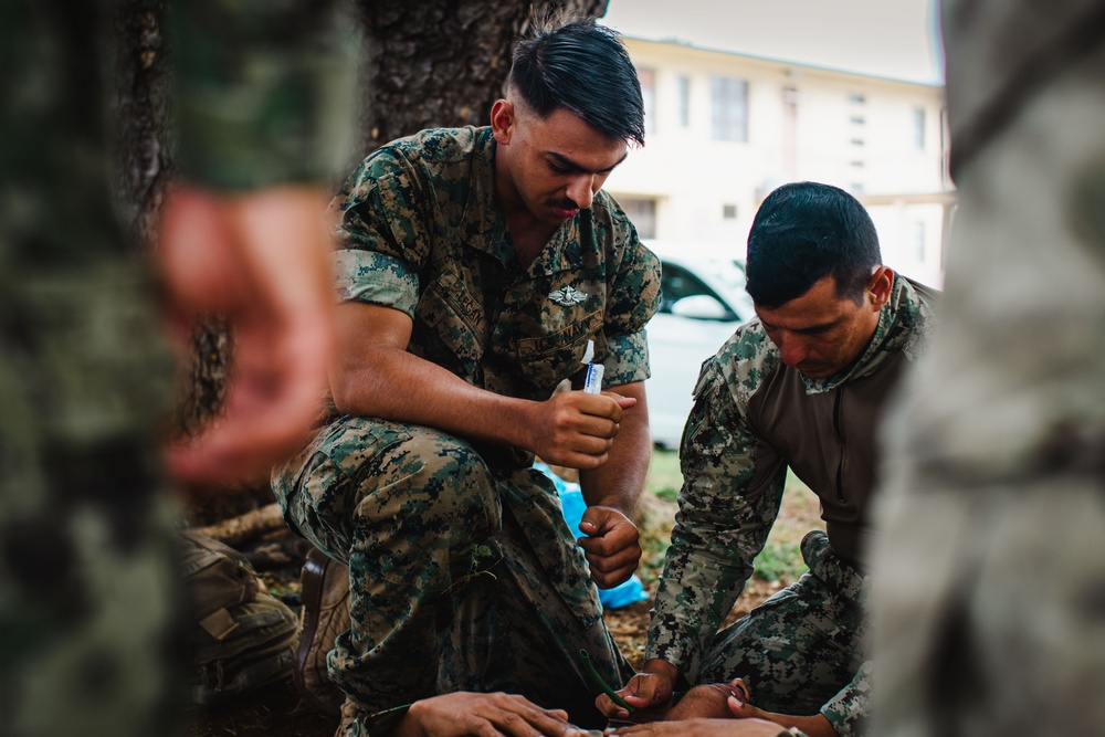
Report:
M116 187L137 242L155 248L155 223L172 178L167 135L167 0L117 0L112 127L119 136ZM186 2L188 0L168 0ZM438 126L485 125L502 95L513 42L534 15L554 11L601 17L609 0L352 0L369 50L357 161L379 145ZM194 336L177 430L194 432L218 412L230 340L218 324Z

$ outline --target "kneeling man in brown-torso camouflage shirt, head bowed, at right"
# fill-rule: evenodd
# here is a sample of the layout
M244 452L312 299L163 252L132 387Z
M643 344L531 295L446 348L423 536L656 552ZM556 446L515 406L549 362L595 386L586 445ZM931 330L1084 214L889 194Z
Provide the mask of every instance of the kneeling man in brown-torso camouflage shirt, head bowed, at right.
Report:
M757 319L703 365L646 662L622 696L664 705L685 680L699 686L667 719L758 717L811 737L860 734L869 677L860 561L876 428L933 325L934 294L882 265L855 198L813 182L764 201L747 275ZM718 632L778 515L788 467L820 497L827 533L802 540L808 573ZM599 706L624 714L607 697ZM730 734L747 734L745 725L732 723Z

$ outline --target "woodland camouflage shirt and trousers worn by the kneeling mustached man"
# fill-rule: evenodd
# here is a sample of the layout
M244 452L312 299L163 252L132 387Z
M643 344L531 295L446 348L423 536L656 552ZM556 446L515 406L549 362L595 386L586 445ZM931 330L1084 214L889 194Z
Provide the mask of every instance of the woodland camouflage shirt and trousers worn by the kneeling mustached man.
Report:
M501 394L579 380L587 340L608 386L648 378L660 270L599 192L524 267L495 203L490 128L438 129L368 157L333 203L338 291L401 309L409 350ZM274 475L293 527L349 565L352 629L330 673L364 718L435 693L504 689L600 723L589 650L629 675L551 483L520 449L427 428L333 419ZM358 731L361 730L361 731Z

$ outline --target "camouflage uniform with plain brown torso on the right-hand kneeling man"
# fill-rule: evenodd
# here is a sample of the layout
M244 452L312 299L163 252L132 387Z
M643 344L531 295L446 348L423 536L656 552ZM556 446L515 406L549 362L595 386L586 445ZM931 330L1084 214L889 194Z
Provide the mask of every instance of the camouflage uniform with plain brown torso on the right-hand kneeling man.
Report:
M758 319L703 364L645 659L675 665L692 684L743 677L760 708L820 713L840 735L863 734L871 581L859 561L877 419L933 328L934 298L896 275L863 354L827 379L786 367ZM778 515L788 466L820 497L828 535L802 540L808 573L718 632Z

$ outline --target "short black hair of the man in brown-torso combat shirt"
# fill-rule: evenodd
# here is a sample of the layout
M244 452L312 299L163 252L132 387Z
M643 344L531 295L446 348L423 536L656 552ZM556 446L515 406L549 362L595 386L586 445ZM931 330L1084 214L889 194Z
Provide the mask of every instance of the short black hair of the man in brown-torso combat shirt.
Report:
M825 276L836 294L861 302L882 263L878 234L860 201L830 185L783 185L767 196L748 232L748 294L778 308Z

